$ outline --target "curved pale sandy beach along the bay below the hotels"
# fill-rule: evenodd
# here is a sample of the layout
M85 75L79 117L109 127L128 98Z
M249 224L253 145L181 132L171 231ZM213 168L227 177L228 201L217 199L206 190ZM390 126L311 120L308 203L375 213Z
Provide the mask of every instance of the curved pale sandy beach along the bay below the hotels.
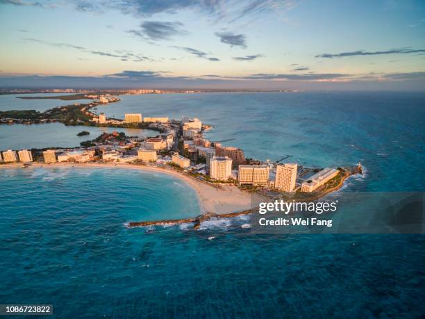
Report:
M22 167L22 163L11 163L0 165L0 168ZM176 172L160 167L146 166L146 165L131 165L125 163L32 163L31 167L81 167L81 168L126 168L131 170L143 170L145 172L157 172L172 175L178 179L185 181L197 193L200 213L235 213L239 211L246 211L256 206L256 202L260 202L260 195L251 194L240 190L233 185L221 184L220 187L215 187L209 183L199 181L194 177L186 174Z

